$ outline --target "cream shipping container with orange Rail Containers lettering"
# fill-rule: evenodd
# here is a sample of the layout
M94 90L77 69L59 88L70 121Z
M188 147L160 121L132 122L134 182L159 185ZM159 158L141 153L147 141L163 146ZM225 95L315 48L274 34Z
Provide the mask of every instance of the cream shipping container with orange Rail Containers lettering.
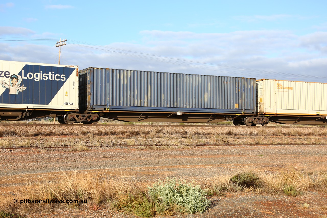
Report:
M258 112L327 115L327 83L257 80Z

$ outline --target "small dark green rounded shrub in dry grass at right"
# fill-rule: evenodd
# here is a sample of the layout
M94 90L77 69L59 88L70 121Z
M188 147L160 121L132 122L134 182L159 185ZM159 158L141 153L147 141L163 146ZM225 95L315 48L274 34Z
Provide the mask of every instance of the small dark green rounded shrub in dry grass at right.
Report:
M253 172L237 173L229 181L232 185L241 188L241 190L244 188L260 187L259 176Z

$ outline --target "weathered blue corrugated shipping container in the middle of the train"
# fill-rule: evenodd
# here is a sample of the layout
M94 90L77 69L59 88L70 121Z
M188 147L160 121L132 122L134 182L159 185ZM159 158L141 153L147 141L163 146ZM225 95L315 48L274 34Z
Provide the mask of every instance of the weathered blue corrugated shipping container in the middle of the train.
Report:
M255 113L255 79L87 68L79 72L87 109ZM87 76L86 76L87 75ZM83 86L83 87L82 87ZM87 87L87 90L86 90Z

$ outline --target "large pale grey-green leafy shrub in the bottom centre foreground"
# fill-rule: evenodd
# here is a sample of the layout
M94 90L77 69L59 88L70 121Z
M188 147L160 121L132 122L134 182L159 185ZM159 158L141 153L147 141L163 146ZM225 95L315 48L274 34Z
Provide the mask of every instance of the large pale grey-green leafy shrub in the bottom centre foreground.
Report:
M156 212L159 215L174 213L204 212L210 204L206 199L207 192L200 186L184 184L176 179L169 179L164 183L159 181L148 187L151 200L154 201Z

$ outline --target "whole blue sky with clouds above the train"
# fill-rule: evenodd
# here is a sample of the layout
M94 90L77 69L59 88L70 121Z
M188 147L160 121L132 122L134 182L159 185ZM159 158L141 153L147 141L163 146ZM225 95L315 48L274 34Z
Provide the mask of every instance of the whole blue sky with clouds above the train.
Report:
M1 60L327 82L327 1L0 1Z

